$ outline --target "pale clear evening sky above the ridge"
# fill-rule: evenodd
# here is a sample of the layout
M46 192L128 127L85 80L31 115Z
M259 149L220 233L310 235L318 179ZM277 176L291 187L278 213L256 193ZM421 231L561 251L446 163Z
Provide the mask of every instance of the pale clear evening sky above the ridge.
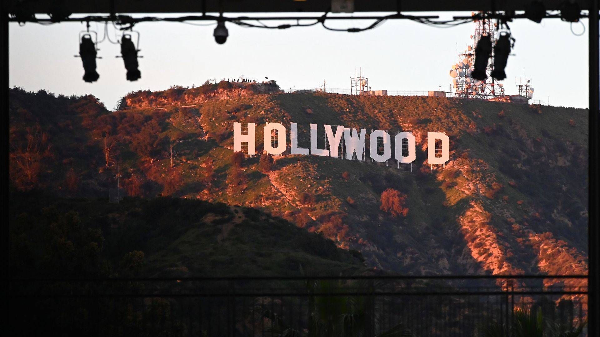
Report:
M381 13L355 15L365 14ZM470 13L426 15L451 19ZM327 25L350 28L371 22L332 20ZM119 32L109 25L108 38L99 45L100 79L86 83L82 80L81 59L74 57L79 53L77 39L85 23L11 23L9 85L28 91L45 89L57 95L92 94L107 109L113 109L119 98L130 91L199 86L208 79L241 75L258 80L269 77L286 90L314 89L323 80L328 88L350 89L350 77L356 70L368 77L373 90L448 91L450 67L458 61L457 52L471 42L475 29L473 23L438 28L410 20L388 20L358 33L328 31L320 25L262 29L227 23L229 38L220 45L212 36L214 27L178 22L137 24L134 30L140 32L142 79L128 82L122 59L115 58L120 55L119 45L108 39L115 41ZM517 94L515 77L518 81L527 76L535 88L535 103L541 100L542 104L553 106L588 107L587 19L572 26L560 19L544 19L540 24L520 19L510 23L510 27L516 41L506 67L508 78L503 82L506 94ZM91 29L98 32L100 39L103 37L103 23L92 23ZM575 35L584 29L583 35Z

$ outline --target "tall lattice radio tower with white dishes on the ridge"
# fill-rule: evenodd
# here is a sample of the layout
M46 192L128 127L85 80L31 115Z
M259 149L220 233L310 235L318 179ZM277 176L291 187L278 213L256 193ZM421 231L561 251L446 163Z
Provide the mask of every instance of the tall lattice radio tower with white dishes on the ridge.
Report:
M482 12L479 12L482 13ZM471 13L475 15L475 13ZM452 77L452 88L451 96L463 97L463 98L482 98L490 99L497 96L504 95L504 88L502 83L491 77L491 71L494 70L494 50L492 49L490 61L485 68L487 79L484 81L476 80L471 77L471 71L473 70L473 64L475 62L475 47L479 42L482 34L488 34L491 38L491 44L496 44L496 37L494 36L494 28L496 23L492 20L481 19L473 20L475 22L475 32L471 35L472 44L467 45L467 49L463 53L458 53L458 63L452 65L450 70L450 76Z

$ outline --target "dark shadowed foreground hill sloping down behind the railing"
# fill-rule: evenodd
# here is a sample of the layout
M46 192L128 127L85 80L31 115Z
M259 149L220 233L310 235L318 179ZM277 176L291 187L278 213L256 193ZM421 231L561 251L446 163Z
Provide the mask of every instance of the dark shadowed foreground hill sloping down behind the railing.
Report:
M365 270L361 254L256 209L182 198L59 199L16 192L11 275L304 276Z

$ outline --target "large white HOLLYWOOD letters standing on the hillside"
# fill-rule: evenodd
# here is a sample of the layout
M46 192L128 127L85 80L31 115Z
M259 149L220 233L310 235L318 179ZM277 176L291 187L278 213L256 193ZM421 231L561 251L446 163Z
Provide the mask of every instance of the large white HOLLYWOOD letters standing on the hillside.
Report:
M242 124L233 123L233 151L242 151L242 143L246 143L247 148L243 149L244 152L248 155L255 155L255 125L254 123L247 123L247 125L247 128L243 130L244 133L242 133ZM357 130L338 125L334 133L331 125L323 125L323 127L325 127L325 137L329 149L319 149L317 146L317 139L319 137L317 124L310 125L310 149L308 149L298 146L298 124L290 123L290 153L293 155L317 155L339 158L338 148L340 148L340 142L342 142L343 137L342 149L346 152L346 159L352 160L356 156L357 160L364 160L366 129ZM263 134L264 149L268 154L281 155L286 151L287 130L281 123L267 123L263 128ZM273 142L274 139L272 137L275 137L276 142ZM383 150L379 151L382 152L381 154L378 154L378 151L370 151L370 157L373 161L385 162L392 157L391 139L391 135L384 130L373 130L369 134L370 149L379 148ZM404 139L407 142L403 145ZM395 160L402 164L412 163L415 160L415 136L408 132L400 132L394 136L394 142L397 144L394 151ZM427 133L427 163L445 164L449 160L449 147L450 139L446 134L437 132Z

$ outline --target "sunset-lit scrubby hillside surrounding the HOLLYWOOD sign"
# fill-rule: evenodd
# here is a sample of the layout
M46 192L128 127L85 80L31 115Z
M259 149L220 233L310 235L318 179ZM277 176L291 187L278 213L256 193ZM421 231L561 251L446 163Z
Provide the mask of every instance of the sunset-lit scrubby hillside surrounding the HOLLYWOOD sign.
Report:
M130 196L260 209L361 251L376 269L587 272L587 110L280 94L270 84L247 83L130 93L116 112L91 96L12 89L10 100L16 189L107 197L119 172ZM392 161L386 167L285 152L272 158L271 170L259 169L259 156L244 158L236 169L233 122L257 124L259 153L265 122L297 122L304 147L309 123L412 131L417 159L411 172ZM451 139L450 161L433 171L426 163L428 131ZM406 195L405 216L380 209L388 188Z

